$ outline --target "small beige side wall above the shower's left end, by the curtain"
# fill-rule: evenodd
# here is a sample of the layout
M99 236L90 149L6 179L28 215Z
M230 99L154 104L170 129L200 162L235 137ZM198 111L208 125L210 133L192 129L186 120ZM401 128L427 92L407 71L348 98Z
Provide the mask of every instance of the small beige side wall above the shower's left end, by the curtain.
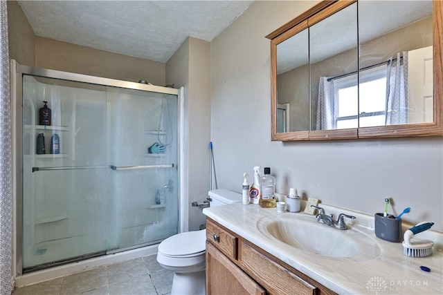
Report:
M35 66L35 35L16 1L8 1L9 55L19 64Z

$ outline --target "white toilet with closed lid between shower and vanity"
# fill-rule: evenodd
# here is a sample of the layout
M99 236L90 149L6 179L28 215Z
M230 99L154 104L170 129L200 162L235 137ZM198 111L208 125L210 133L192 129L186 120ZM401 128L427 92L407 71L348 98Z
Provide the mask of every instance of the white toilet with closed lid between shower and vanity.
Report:
M210 207L242 202L242 194L226 189L215 189L208 195ZM174 272L171 295L206 294L205 249L206 229L176 234L160 243L157 261Z

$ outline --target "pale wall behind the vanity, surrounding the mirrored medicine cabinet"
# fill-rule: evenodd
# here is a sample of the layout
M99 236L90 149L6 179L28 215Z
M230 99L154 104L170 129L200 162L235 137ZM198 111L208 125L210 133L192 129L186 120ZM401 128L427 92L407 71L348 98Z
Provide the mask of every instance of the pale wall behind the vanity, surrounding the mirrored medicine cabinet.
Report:
M264 36L318 1L255 1L211 44L211 140L219 187L241 191L242 173L270 166L276 190L376 213L405 207L408 222L443 230L443 139L271 142L270 41Z

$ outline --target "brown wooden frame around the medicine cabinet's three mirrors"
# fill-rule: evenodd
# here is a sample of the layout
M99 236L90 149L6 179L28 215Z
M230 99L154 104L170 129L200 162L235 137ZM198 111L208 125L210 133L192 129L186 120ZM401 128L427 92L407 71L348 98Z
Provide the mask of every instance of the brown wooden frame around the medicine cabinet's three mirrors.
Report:
M355 2L356 0L322 1L266 35L266 38L271 39L272 141L443 136L443 1L441 0L433 0L433 122L277 133L277 44Z

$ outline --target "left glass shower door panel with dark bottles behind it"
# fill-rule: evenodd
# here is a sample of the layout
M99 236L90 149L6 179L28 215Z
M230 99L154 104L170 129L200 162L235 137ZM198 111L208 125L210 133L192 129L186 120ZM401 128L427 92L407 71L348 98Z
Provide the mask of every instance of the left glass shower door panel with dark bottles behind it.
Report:
M23 268L105 253L106 88L23 79ZM51 109L49 125L39 122L43 101ZM37 138L44 139L44 151Z

